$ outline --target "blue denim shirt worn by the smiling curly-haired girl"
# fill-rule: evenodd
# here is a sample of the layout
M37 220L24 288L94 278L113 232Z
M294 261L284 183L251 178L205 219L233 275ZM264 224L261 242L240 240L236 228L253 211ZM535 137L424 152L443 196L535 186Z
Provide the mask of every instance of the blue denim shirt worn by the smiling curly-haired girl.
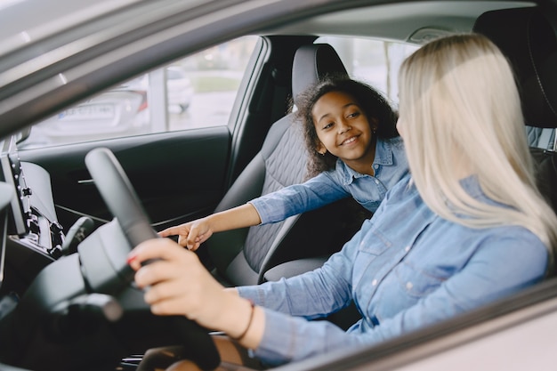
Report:
M250 203L259 213L262 224L280 222L350 196L373 213L387 190L408 173L402 139L377 139L372 166L375 176L358 173L339 159L335 170L319 173L309 181L255 198Z

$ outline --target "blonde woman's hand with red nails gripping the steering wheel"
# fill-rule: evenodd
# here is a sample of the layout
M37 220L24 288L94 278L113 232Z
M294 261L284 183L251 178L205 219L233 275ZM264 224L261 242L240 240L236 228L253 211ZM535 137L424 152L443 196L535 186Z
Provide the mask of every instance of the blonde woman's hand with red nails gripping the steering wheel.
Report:
M141 265L151 259L155 260ZM225 291L197 254L170 239L155 238L134 248L128 263L136 270L135 283L145 290L145 301L154 314L182 315L231 336L244 331L251 304Z

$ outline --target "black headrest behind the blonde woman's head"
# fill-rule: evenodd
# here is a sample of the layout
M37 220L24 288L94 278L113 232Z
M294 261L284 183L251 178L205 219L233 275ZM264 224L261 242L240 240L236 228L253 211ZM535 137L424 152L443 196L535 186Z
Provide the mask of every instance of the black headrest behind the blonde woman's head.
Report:
M513 64L526 124L557 127L557 38L535 7L485 12L473 27Z

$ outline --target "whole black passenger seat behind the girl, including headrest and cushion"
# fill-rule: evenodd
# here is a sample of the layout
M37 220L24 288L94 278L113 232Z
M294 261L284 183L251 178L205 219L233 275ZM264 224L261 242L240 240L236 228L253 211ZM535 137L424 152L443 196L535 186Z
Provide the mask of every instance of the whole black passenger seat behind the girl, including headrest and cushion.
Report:
M329 44L301 46L293 63L294 97L327 74L347 75L343 62ZM215 212L304 181L306 158L301 125L290 113L271 126L261 151L239 174ZM311 270L324 261L321 256L340 250L356 231L344 228L344 218L349 216L342 212L345 202L350 201L296 215L284 222L215 233L201 248L206 248L214 275L226 286L261 283L263 273L282 262L303 259L295 264L296 271Z

